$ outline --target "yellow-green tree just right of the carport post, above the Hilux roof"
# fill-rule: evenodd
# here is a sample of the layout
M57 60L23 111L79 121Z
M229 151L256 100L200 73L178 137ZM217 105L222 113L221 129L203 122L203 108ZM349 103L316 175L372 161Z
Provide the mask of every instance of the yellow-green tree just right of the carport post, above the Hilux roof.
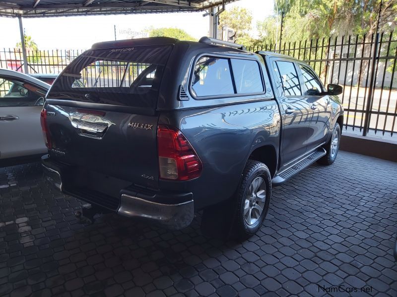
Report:
M235 40L239 44L248 45L253 39L250 36L252 29L252 13L246 8L235 6L219 15L219 30L224 26L233 29Z

